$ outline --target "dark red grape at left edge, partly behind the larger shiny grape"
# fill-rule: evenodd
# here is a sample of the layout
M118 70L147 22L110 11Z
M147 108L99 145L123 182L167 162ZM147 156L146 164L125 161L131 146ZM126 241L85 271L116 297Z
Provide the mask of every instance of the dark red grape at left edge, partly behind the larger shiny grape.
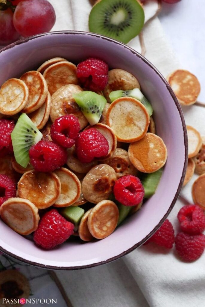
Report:
M8 45L16 41L20 35L13 26L13 13L10 9L0 11L0 45Z

